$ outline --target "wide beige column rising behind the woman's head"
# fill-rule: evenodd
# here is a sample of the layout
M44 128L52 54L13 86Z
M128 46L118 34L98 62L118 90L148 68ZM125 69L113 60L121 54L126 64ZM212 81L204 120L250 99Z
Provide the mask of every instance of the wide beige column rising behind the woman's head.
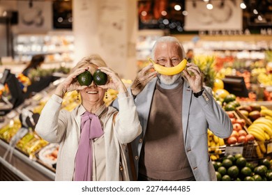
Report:
M75 63L100 54L123 79L137 73L137 0L73 1Z

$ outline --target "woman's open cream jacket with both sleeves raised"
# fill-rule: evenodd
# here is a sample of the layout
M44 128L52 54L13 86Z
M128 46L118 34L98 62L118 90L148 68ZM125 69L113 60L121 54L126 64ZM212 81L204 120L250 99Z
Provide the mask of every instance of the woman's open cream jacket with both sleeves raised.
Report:
M36 132L43 139L51 143L59 143L59 153L56 162L55 180L73 180L75 167L75 154L80 141L81 115L86 111L79 105L69 112L61 109L62 98L52 95L43 108L36 125ZM136 107L133 98L119 94L119 113L115 118L115 125L112 122L114 114L118 111L113 107L105 107L107 114L103 120L106 153L106 180L120 180L120 153L128 151L120 150L121 144L133 141L141 132ZM104 110L102 108L102 111ZM102 112L101 111L101 112ZM123 159L123 169L128 180L128 166L126 159Z

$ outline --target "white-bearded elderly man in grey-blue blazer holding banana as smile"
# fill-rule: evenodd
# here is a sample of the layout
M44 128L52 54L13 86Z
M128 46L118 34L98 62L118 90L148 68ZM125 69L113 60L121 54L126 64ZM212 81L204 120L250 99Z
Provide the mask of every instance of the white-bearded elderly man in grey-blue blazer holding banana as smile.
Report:
M186 54L179 40L165 36L156 41L151 57L171 68ZM229 117L213 99L211 88L203 86L197 65L187 63L176 75L151 68L152 64L143 68L130 87L143 130L132 143L137 180L216 180L207 129L229 137Z

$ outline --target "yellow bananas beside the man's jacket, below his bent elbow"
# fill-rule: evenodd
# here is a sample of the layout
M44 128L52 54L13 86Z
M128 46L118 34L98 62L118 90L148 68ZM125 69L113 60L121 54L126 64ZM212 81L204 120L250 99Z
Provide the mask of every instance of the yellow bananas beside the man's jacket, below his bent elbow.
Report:
M211 159L216 160L219 158L219 155L222 154L220 146L225 146L225 142L224 139L217 137L211 130L208 130L208 146Z

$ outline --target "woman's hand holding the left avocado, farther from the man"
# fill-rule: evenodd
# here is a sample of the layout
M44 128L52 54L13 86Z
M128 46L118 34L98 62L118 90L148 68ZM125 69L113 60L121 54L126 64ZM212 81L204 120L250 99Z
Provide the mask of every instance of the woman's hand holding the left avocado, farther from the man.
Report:
M82 90L87 86L81 86L77 81L77 75L80 75L82 72L89 70L89 67L79 68L72 72L66 79L56 87L55 94L59 95L59 97L63 98L65 93L69 91Z

